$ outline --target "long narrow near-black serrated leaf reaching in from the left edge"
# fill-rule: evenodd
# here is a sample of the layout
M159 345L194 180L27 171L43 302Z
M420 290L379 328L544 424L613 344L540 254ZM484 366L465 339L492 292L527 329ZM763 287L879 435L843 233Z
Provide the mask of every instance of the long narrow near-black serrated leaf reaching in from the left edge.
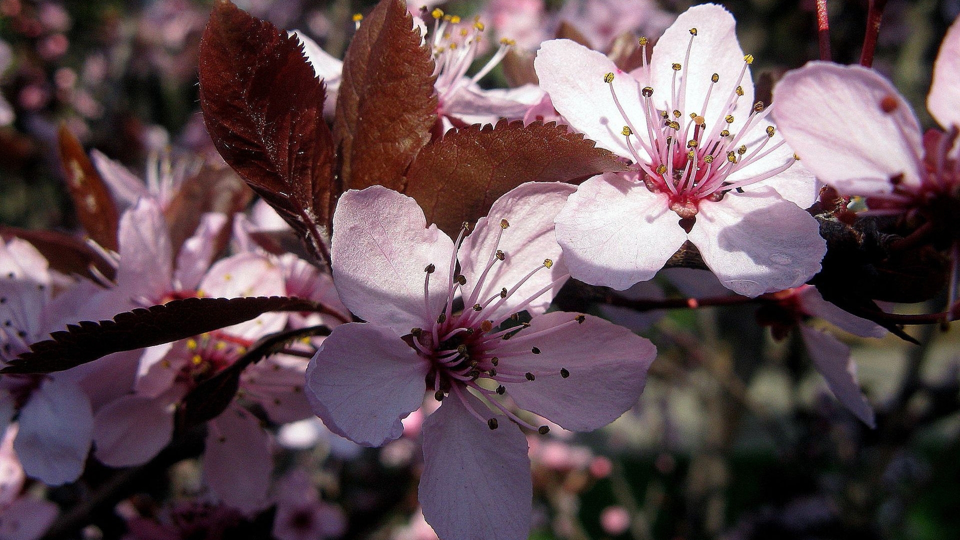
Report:
M321 309L293 297L185 298L117 314L110 321L83 321L31 345L0 373L54 373L102 356L169 343L249 321L267 311Z

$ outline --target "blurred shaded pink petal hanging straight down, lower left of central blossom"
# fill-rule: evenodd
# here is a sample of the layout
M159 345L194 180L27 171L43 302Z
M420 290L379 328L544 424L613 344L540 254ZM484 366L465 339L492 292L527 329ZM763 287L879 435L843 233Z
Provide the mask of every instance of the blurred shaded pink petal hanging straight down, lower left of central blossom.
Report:
M245 513L263 508L273 470L270 434L250 412L230 405L210 421L204 479L221 501Z

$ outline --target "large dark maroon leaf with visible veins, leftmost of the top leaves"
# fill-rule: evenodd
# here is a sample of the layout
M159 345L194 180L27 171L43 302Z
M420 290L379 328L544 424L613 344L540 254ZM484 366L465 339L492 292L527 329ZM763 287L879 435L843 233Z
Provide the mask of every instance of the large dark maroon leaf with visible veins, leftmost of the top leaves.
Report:
M324 85L300 41L217 0L199 61L200 104L220 155L321 257L320 227L339 192Z

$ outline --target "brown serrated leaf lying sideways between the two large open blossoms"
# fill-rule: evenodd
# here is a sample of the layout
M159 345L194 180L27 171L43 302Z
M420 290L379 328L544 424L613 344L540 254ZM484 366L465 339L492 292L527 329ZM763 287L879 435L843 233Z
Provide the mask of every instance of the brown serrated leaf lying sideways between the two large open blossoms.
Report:
M487 214L500 195L525 182L576 182L626 166L563 126L497 122L448 132L420 152L404 192L445 233Z

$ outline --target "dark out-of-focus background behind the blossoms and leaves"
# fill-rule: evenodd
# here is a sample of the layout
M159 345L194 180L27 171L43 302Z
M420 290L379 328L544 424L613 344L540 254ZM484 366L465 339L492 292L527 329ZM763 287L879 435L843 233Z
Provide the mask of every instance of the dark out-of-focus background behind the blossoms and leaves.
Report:
M336 58L352 35L351 15L372 6L236 3L281 28L298 29ZM87 149L119 160L138 176L165 166L157 156L174 164L219 162L197 99L198 42L211 4L0 0L0 224L77 230L56 151L60 124ZM464 17L480 14L497 37L534 50L538 36L552 37L571 14L594 25L598 35L635 31L655 37L691 3L577 4L439 5ZM756 57L759 88L769 91L785 70L818 58L813 0L722 4L737 19L743 49ZM831 0L828 10L834 61L856 62L868 3ZM958 12L957 0L891 0L886 6L875 67L911 101L924 127L933 126L925 110L932 61ZM624 24L628 28L617 26ZM483 84L506 86L502 68ZM656 294L681 289L666 279L658 283ZM675 309L657 313L655 324L655 317L601 314L641 329L660 356L640 402L608 429L583 435L554 430L531 438L532 538L960 538L956 329L907 329L920 346L894 336L868 341L840 334L852 346L876 409L877 428L871 430L828 393L796 332L773 339L757 325L756 307ZM343 537L427 539L431 531L416 502L418 422L412 417L404 437L374 450L356 448L318 423L288 426L277 432L285 449L278 460L281 469L307 467L324 498L346 512ZM112 517L94 520L84 534L123 534L117 516L148 515L186 501L196 476L196 463L181 461L159 480L144 482L140 495ZM68 505L82 496L78 489L59 488L54 498ZM266 526L257 523L219 534L265 537ZM221 536L205 530L192 537Z

